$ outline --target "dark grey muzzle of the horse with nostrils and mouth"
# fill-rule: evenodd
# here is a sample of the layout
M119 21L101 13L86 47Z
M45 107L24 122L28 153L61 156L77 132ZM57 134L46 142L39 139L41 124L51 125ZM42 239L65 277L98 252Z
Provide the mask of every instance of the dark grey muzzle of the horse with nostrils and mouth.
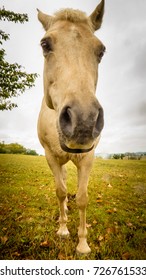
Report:
M103 126L103 109L98 101L87 112L77 105L66 105L59 115L60 146L68 153L87 153L94 148Z

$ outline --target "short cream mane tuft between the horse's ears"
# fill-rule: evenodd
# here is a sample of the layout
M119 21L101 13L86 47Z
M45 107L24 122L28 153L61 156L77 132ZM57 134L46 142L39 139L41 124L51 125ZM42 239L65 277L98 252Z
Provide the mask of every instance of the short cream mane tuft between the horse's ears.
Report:
M86 23L91 29L93 29L92 22L86 13L80 10L63 9L54 14L53 22L58 20L67 20L73 23Z

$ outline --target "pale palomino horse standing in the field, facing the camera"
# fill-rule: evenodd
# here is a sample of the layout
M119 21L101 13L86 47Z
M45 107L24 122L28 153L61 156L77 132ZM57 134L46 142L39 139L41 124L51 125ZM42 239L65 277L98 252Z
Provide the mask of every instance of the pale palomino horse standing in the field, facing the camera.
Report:
M65 164L71 160L77 167L76 203L80 223L76 251L81 254L91 252L86 227L87 186L104 126L103 108L95 92L105 46L94 35L103 15L104 0L90 16L70 8L53 16L38 10L38 20L45 29L40 42L44 56L44 95L38 138L55 179L60 237L69 235Z

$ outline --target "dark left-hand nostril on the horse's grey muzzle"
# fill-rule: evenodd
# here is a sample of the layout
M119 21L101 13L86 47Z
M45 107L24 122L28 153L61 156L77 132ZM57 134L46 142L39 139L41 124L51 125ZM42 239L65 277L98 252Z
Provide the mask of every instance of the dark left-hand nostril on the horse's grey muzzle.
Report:
M72 114L71 114L71 108L66 106L62 109L62 112L60 114L59 123L62 132L70 137L72 135Z

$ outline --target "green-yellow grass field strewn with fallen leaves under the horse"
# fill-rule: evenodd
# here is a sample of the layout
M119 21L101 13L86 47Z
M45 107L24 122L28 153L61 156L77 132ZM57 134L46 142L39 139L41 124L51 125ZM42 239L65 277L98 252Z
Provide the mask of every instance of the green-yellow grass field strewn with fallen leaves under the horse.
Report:
M76 168L68 164L68 229L56 236L59 209L43 156L0 155L0 259L146 259L146 161L95 159L89 182L88 243L76 254Z

